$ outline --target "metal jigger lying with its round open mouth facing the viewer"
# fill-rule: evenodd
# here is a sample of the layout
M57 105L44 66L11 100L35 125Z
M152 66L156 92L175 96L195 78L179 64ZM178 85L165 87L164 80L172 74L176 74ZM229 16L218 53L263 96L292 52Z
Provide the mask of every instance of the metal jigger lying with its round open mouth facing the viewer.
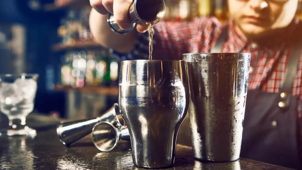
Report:
M130 141L127 126L117 128L110 122L99 122L92 129L92 142L102 152L113 150L120 140Z

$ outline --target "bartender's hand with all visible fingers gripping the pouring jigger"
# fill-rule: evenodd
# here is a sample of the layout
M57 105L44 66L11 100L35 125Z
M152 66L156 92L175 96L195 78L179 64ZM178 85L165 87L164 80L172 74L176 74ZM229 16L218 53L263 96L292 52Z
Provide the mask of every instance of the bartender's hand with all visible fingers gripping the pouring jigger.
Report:
M121 29L128 29L131 23L128 18L128 9L132 4L132 0L90 0L90 5L98 13L107 15L114 14L116 23ZM138 32L146 32L148 26L144 23L137 23Z

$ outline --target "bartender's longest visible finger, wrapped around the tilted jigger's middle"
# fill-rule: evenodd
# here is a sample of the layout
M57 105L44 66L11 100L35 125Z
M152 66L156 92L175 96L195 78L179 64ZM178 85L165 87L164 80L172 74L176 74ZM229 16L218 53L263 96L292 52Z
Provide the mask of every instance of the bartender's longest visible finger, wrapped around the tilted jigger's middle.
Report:
M128 18L128 10L132 0L114 0L113 2L113 14L115 21L121 29L128 29L131 26Z

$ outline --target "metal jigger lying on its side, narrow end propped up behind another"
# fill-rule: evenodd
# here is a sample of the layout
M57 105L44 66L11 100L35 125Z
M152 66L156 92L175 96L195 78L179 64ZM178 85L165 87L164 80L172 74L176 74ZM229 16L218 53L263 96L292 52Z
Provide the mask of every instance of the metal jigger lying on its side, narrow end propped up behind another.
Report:
M124 127L124 119L120 114L118 104L113 106L100 117L77 120L72 122L61 122L57 126L57 134L60 141L69 147L72 143L84 138L92 132L98 122L106 121L116 128Z

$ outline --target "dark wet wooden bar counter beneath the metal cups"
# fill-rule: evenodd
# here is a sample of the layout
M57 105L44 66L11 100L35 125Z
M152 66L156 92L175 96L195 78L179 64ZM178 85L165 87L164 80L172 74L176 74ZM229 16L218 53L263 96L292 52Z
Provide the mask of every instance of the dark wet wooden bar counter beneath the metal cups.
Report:
M0 169L74 169L74 170L128 170L133 165L129 142L120 142L111 152L104 153L91 143L91 136L81 139L71 147L65 147L56 134L58 120L46 116L28 116L27 124L37 129L34 139L22 136L0 137ZM3 127L3 116L0 123ZM194 159L192 148L177 145L175 164L169 170L247 170L289 169L250 159L235 162L212 163Z

